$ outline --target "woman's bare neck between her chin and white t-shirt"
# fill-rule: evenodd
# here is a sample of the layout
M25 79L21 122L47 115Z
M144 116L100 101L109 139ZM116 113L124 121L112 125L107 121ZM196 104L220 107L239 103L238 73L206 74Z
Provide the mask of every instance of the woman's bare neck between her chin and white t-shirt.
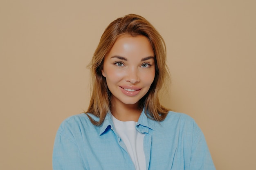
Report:
M120 101L111 102L112 115L121 121L138 121L141 115L141 109L139 104L124 104Z

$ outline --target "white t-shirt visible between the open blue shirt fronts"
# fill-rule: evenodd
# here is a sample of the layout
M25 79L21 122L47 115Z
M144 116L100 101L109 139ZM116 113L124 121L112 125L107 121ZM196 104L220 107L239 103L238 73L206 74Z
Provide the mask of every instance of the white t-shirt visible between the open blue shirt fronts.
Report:
M112 115L112 120L118 135L126 145L128 154L135 165L136 170L146 170L146 159L144 154L143 141L145 134L135 129L137 122L120 121Z

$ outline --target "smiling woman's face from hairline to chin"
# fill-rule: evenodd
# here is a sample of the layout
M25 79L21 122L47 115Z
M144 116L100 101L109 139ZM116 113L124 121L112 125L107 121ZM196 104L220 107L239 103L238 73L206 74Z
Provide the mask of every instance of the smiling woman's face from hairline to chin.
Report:
M121 35L105 56L102 75L116 104L137 104L155 77L154 52L145 36Z

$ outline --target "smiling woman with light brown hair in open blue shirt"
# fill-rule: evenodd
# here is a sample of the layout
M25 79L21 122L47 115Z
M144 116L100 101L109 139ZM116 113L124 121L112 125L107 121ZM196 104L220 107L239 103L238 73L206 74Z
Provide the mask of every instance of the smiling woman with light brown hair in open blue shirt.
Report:
M200 128L159 103L164 40L135 14L110 23L92 57L87 113L58 129L54 170L214 170Z

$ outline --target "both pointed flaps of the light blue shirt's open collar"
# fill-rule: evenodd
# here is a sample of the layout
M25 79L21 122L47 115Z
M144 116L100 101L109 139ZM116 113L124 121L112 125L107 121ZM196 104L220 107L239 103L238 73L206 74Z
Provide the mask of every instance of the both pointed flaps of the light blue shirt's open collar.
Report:
M150 128L152 130L155 130L155 120L152 120L152 119L148 118L146 116L146 113L145 113L144 109L141 112L141 115L139 117L139 120L138 120L138 123L137 123L136 126L139 127L140 125L147 128L146 131L143 130L144 132L148 132L148 128ZM112 121L112 118L111 118L111 113L108 112L106 117L105 117L105 120L103 121L101 126L99 126L99 128L100 128L99 135L102 135L105 131L111 129L112 127L114 127L114 124L113 124L113 121Z

